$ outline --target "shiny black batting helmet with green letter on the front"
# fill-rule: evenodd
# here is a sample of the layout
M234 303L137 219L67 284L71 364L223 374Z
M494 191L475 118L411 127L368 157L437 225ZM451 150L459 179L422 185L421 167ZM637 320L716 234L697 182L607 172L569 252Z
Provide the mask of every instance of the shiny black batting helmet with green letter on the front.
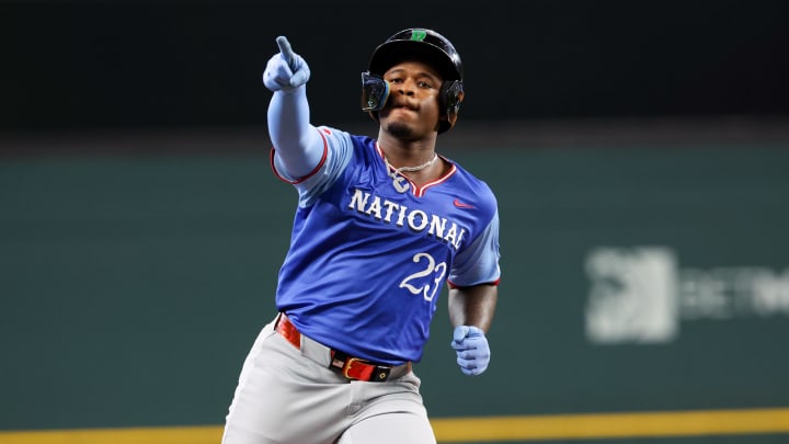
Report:
M362 111L369 112L378 119L378 111L386 105L389 95L389 84L384 81L384 73L405 59L425 61L444 78L439 100L447 119L441 122L438 133L448 130L457 121L464 99L462 62L455 46L433 30L403 30L378 45L370 57L368 70L362 73Z

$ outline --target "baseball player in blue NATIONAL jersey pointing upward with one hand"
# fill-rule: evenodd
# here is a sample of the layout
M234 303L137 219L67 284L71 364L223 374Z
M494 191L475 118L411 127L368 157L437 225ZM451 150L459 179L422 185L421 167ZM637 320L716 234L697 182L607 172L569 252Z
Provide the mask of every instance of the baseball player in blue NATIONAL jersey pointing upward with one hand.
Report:
M310 123L309 67L276 42L271 167L298 206L278 312L243 363L222 443L435 443L412 363L447 284L447 342L462 373L484 372L500 280L495 196L436 152L464 100L460 57L425 29L379 45L362 73L370 138Z

